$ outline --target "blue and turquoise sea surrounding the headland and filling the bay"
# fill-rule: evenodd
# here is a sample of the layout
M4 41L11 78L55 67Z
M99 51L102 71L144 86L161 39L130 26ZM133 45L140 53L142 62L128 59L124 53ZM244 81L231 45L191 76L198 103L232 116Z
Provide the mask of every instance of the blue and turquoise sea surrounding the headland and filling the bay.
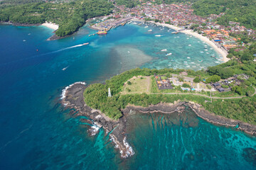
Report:
M242 157L242 149L256 149L254 137L198 118L193 128L165 117L157 124L157 114L134 115L139 119L131 123L128 140L135 155L120 159L104 130L88 137L87 125L60 106L62 89L75 81L104 81L134 67L217 64L210 55L218 54L200 40L161 29L131 24L88 37L96 31L84 27L69 38L46 41L48 28L1 25L0 169L255 169ZM90 45L74 47L84 42Z

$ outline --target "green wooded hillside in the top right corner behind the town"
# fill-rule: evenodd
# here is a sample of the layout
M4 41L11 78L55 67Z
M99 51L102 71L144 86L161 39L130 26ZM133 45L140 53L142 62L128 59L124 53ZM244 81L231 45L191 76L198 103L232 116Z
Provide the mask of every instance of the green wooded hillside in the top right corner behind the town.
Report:
M199 16L225 13L218 23L228 26L229 21L242 23L246 28L256 28L256 0L200 0L193 4L194 13Z

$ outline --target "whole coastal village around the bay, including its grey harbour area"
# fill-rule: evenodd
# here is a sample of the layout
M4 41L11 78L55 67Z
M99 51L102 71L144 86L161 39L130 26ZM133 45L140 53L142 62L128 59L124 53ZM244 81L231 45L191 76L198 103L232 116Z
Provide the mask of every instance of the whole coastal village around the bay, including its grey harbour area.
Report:
M176 26L179 30L198 32L214 42L227 54L231 48L235 51L245 50L247 44L245 37L256 40L256 30L245 28L245 26L240 26L240 23L231 21L229 26L221 26L216 22L216 19L225 15L225 13L211 14L208 17L196 16L193 14L191 4L155 5L146 2L134 8L115 6L113 12L110 16L105 16L99 23L92 24L91 27L107 33L111 28L124 26L132 19L143 22L166 23Z

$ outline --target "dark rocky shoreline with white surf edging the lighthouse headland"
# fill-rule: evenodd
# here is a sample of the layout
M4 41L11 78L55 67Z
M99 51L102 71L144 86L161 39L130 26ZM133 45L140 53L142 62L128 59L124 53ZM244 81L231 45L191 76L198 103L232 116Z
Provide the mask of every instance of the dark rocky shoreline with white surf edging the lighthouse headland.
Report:
M185 106L189 106L198 117L213 123L215 125L225 125L227 127L236 127L239 125L238 130L242 130L250 135L256 136L256 125L250 125L248 123L242 123L239 120L231 120L224 118L220 115L215 115L203 109L200 105L193 102L181 102L175 103L159 103L154 106L143 108L140 106L127 106L122 110L123 116L119 120L111 120L106 115L98 110L92 109L86 105L83 99L83 91L87 86L85 83L78 82L66 87L63 90L62 103L65 107L75 108L75 116L86 116L88 119L84 119L86 123L90 123L91 128L88 130L90 135L97 134L100 128L103 128L106 134L110 135L110 140L114 142L115 148L119 149L121 157L127 158L134 154L132 147L127 142L127 117L134 111L141 113L182 113Z

